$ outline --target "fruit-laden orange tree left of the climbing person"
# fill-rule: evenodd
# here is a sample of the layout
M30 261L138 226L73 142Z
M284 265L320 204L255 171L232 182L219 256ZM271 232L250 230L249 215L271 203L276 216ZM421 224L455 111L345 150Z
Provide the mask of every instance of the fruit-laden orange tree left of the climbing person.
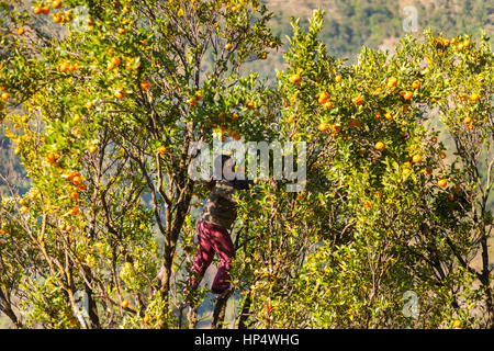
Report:
M2 125L32 181L2 195L2 312L26 327L177 326L189 146L269 134L270 93L240 67L280 44L271 14L243 0L0 9Z

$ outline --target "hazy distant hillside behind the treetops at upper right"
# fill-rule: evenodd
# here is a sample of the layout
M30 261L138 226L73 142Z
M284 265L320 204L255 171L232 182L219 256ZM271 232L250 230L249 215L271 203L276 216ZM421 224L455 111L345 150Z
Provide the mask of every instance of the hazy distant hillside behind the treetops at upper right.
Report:
M406 7L415 7L417 34L433 29L446 36L470 34L480 37L483 29L494 34L494 2L485 0L265 0L273 12L271 27L284 43L292 33L290 16L300 18L307 25L314 9L325 11L325 29L321 38L336 57L355 60L360 48L392 49L407 32L403 23ZM413 33L411 33L413 34ZM249 69L261 76L274 78L274 68L281 68L280 53L271 54L267 61L254 63Z

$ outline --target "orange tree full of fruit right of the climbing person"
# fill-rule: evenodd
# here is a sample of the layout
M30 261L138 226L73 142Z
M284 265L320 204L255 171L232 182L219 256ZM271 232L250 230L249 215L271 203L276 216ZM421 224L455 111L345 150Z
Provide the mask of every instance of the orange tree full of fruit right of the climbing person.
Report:
M278 76L306 189L268 182L242 202L239 327L494 327L487 38L426 32L347 66L322 18L292 23Z

